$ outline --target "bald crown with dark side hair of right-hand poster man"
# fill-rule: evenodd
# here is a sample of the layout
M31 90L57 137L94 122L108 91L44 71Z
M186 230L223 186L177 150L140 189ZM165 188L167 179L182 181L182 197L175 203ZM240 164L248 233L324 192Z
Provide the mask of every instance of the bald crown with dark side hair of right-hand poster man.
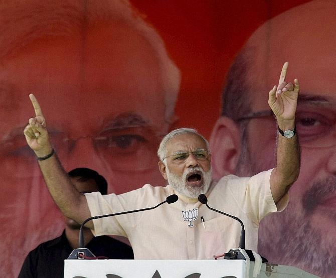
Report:
M253 103L256 110L267 107L261 94L277 84L284 61L289 61L288 80L301 81L301 93L313 94L321 85L331 92L335 43L336 2L332 0L311 1L267 21L252 34L230 69L222 115L236 119L251 112ZM237 104L232 107L232 103Z

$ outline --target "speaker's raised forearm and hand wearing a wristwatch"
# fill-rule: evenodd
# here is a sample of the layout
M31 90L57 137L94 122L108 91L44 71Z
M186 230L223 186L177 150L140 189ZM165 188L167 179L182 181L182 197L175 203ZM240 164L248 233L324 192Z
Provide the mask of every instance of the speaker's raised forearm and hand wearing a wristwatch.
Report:
M279 85L269 92L268 104L278 123L277 166L270 178L274 202L277 203L297 179L300 170L300 148L295 132L295 112L299 93L298 80L285 81L288 62L283 65ZM294 131L294 132L291 132ZM295 133L293 135L293 133ZM293 135L293 136L292 136Z

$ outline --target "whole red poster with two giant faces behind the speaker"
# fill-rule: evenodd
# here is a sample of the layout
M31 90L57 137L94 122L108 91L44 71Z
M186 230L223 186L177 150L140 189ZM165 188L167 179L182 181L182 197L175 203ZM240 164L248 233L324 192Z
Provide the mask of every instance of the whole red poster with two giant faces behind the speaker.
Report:
M216 179L275 167L274 119L241 119L269 110L285 61L300 81L301 170L287 208L261 222L258 251L336 272L333 1L25 0L0 3L0 23L1 273L17 276L64 228L23 136L30 93L65 171L92 168L119 194L166 184L156 151L178 127L210 140Z

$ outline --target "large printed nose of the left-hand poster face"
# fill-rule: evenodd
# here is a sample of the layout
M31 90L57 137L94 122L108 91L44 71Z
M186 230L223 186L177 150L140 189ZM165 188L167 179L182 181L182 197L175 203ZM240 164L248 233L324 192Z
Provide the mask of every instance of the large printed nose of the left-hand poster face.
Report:
M91 138L88 137L77 139L73 148L65 151L60 159L66 171L85 167L101 172L104 168L103 158L99 157Z

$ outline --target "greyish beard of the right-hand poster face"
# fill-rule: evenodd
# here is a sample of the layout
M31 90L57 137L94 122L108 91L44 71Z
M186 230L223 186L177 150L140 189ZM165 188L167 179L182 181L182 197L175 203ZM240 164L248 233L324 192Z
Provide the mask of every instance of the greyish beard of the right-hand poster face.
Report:
M298 211L293 200L284 212L261 221L260 254L272 263L293 265L324 278L334 277L336 244L319 227L311 225L311 214Z

